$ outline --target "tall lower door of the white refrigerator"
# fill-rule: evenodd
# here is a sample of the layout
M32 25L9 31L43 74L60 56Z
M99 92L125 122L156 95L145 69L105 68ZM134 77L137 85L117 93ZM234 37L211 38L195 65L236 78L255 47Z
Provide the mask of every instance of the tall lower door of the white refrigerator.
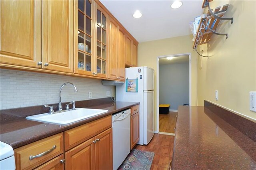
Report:
M150 140L153 138L154 130L153 130L153 95L154 91L144 91L144 135L143 141L144 144L148 144Z

